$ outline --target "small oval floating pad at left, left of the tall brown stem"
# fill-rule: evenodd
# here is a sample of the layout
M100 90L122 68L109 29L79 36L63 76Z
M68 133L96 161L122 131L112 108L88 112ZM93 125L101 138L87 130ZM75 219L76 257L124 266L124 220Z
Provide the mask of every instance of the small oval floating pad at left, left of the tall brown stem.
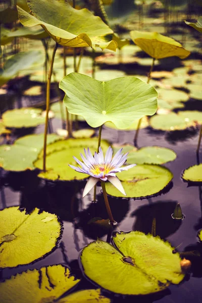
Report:
M41 116L41 113L41 109L21 108L5 112L2 120L6 127L36 127L45 123L45 118Z

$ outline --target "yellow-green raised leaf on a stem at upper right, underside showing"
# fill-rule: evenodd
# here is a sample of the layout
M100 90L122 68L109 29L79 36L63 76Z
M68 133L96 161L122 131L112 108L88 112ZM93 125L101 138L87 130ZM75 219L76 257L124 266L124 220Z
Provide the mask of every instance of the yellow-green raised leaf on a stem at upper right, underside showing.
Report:
M183 46L170 37L157 32L130 32L131 39L149 56L155 59L177 56L184 59L190 55Z

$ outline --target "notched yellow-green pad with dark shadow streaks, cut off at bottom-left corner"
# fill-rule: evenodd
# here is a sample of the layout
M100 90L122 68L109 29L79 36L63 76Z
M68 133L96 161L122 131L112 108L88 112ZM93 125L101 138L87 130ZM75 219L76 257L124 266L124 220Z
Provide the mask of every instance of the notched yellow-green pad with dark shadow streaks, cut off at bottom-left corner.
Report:
M110 303L110 299L100 293L100 289L86 289L64 296L78 283L70 270L59 264L27 270L0 283L2 303L55 302L58 303ZM61 298L61 296L63 296Z

